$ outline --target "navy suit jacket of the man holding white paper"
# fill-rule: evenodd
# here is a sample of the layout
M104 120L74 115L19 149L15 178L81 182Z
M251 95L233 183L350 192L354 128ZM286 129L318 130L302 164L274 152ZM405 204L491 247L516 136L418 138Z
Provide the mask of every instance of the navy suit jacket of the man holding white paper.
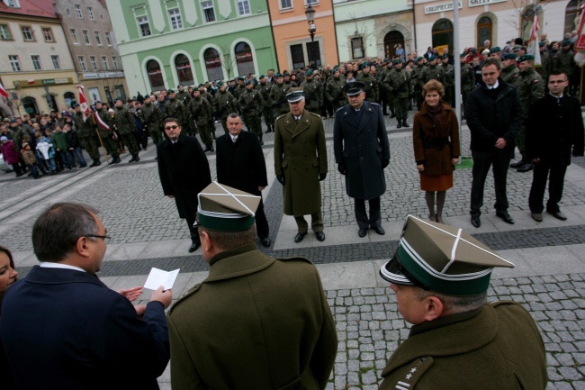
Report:
M157 389L169 359L165 309L144 319L98 277L40 268L4 295L0 337L19 389Z

